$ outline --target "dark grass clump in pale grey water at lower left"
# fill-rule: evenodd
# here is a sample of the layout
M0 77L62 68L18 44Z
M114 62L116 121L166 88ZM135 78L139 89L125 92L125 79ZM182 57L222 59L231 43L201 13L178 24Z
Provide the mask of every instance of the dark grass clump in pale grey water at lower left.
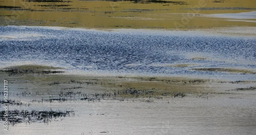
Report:
M0 119L5 120L5 111L0 112ZM57 118L63 118L67 116L75 116L74 110L9 110L8 120L9 124L15 125L18 123L34 123L34 122L44 122L49 123Z

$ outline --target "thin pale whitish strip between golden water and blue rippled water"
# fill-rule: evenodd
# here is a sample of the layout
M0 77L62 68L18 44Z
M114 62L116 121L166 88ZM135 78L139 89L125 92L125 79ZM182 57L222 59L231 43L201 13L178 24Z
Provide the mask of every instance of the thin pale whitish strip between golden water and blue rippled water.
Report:
M51 30L73 30L73 31L98 31L98 32L118 32L125 34L146 34L146 35L184 35L213 36L213 37L240 37L254 39L256 37L256 27L212 27L212 28L190 28L190 29L142 29L142 28L89 28L89 27L63 27L63 26L24 26L24 25L0 25L0 27L23 27L23 28L46 28ZM174 32L173 34L170 32ZM196 32L196 35L195 35ZM209 33L211 32L211 33ZM194 34L193 34L194 33ZM1 38L1 37L0 37Z

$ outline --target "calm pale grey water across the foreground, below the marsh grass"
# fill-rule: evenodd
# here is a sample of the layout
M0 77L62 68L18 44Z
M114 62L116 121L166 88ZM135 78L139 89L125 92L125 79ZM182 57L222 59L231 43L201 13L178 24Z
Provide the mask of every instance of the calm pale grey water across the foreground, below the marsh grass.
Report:
M57 118L49 124L9 126L4 134L254 134L255 93L251 96L207 95L206 98L168 98L142 102L34 103L37 109L73 108L75 117ZM230 98L232 97L232 98ZM246 98L245 98L246 97ZM168 103L169 101L169 103ZM57 107L58 106L58 107ZM62 106L62 107L60 107ZM18 107L16 107L19 109ZM26 107L23 107L26 109ZM98 115L99 114L99 115ZM104 114L104 115L100 115ZM0 121L3 124L3 121ZM102 131L108 133L100 133ZM2 131L1 131L2 132Z

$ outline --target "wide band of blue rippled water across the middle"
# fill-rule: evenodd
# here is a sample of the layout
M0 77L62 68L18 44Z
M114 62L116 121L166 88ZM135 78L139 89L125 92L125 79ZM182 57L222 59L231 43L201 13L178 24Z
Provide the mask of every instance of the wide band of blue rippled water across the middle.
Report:
M90 75L225 76L193 68L256 69L256 38L200 31L100 31L58 27L0 27L2 66L13 61L62 66ZM193 59L196 57L205 59ZM175 64L188 67L175 67ZM242 78L242 79L241 79Z

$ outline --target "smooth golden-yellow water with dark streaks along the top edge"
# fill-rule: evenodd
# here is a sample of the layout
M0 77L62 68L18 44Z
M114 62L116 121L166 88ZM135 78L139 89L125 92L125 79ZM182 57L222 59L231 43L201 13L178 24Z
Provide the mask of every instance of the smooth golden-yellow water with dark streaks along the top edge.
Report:
M184 3L154 2L145 0L138 1L138 3L134 1L3 0L0 1L0 25L147 29L256 26L255 21L229 21L230 19L205 16L205 14L255 11L256 1L173 0L172 2ZM166 0L166 2L171 1ZM196 15L187 15L192 13ZM248 20L256 20L256 18Z

